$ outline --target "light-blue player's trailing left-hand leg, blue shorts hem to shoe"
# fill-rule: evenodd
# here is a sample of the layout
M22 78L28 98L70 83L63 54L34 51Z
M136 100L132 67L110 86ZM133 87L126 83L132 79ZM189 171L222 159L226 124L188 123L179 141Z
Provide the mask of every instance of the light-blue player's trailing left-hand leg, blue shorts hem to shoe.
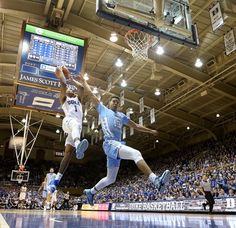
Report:
M93 188L85 189L84 194L90 205L93 204L94 194L116 181L120 168L120 160L107 157L107 176L102 178Z

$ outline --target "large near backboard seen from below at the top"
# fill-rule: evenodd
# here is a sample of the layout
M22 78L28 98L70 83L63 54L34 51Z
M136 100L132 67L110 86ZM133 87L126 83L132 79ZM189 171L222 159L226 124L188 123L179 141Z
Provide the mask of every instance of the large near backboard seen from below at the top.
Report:
M197 27L192 25L188 0L97 0L96 12L107 20L196 47Z

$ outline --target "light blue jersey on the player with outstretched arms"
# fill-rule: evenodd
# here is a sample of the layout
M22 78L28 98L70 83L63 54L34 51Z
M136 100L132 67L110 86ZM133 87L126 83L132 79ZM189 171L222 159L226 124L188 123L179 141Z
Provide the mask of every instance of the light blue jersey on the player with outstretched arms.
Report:
M104 134L104 139L121 142L122 127L128 124L129 118L122 112L114 112L99 103L97 106L100 122Z

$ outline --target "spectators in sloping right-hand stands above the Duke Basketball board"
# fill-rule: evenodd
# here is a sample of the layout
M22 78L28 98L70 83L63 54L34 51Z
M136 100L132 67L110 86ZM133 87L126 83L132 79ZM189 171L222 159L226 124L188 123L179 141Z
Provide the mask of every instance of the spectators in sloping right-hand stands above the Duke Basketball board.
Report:
M236 197L236 136L227 135L219 141L207 141L183 151L162 156L153 170L172 173L169 186L159 194L147 177L138 171L127 178L127 170L120 180L95 196L95 202L130 202L202 198L199 188L202 176L211 181L214 197ZM121 169L122 170L122 169Z

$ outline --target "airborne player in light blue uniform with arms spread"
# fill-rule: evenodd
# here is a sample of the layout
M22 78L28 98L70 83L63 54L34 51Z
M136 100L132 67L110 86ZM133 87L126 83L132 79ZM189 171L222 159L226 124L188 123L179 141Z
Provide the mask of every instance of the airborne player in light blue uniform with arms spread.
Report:
M117 109L120 103L119 97L112 96L109 100L108 107L105 107L92 93L90 86L82 75L79 77L79 81L84 86L85 93L88 94L99 114L104 134L103 150L107 156L107 176L101 179L93 188L84 190L89 204L94 204L93 197L96 192L116 181L121 159L133 160L158 190L163 192L166 183L169 182L170 171L166 170L161 176L156 176L144 161L142 154L138 150L124 145L121 141L123 125L153 135L157 135L157 131L136 124L125 114L118 112Z

